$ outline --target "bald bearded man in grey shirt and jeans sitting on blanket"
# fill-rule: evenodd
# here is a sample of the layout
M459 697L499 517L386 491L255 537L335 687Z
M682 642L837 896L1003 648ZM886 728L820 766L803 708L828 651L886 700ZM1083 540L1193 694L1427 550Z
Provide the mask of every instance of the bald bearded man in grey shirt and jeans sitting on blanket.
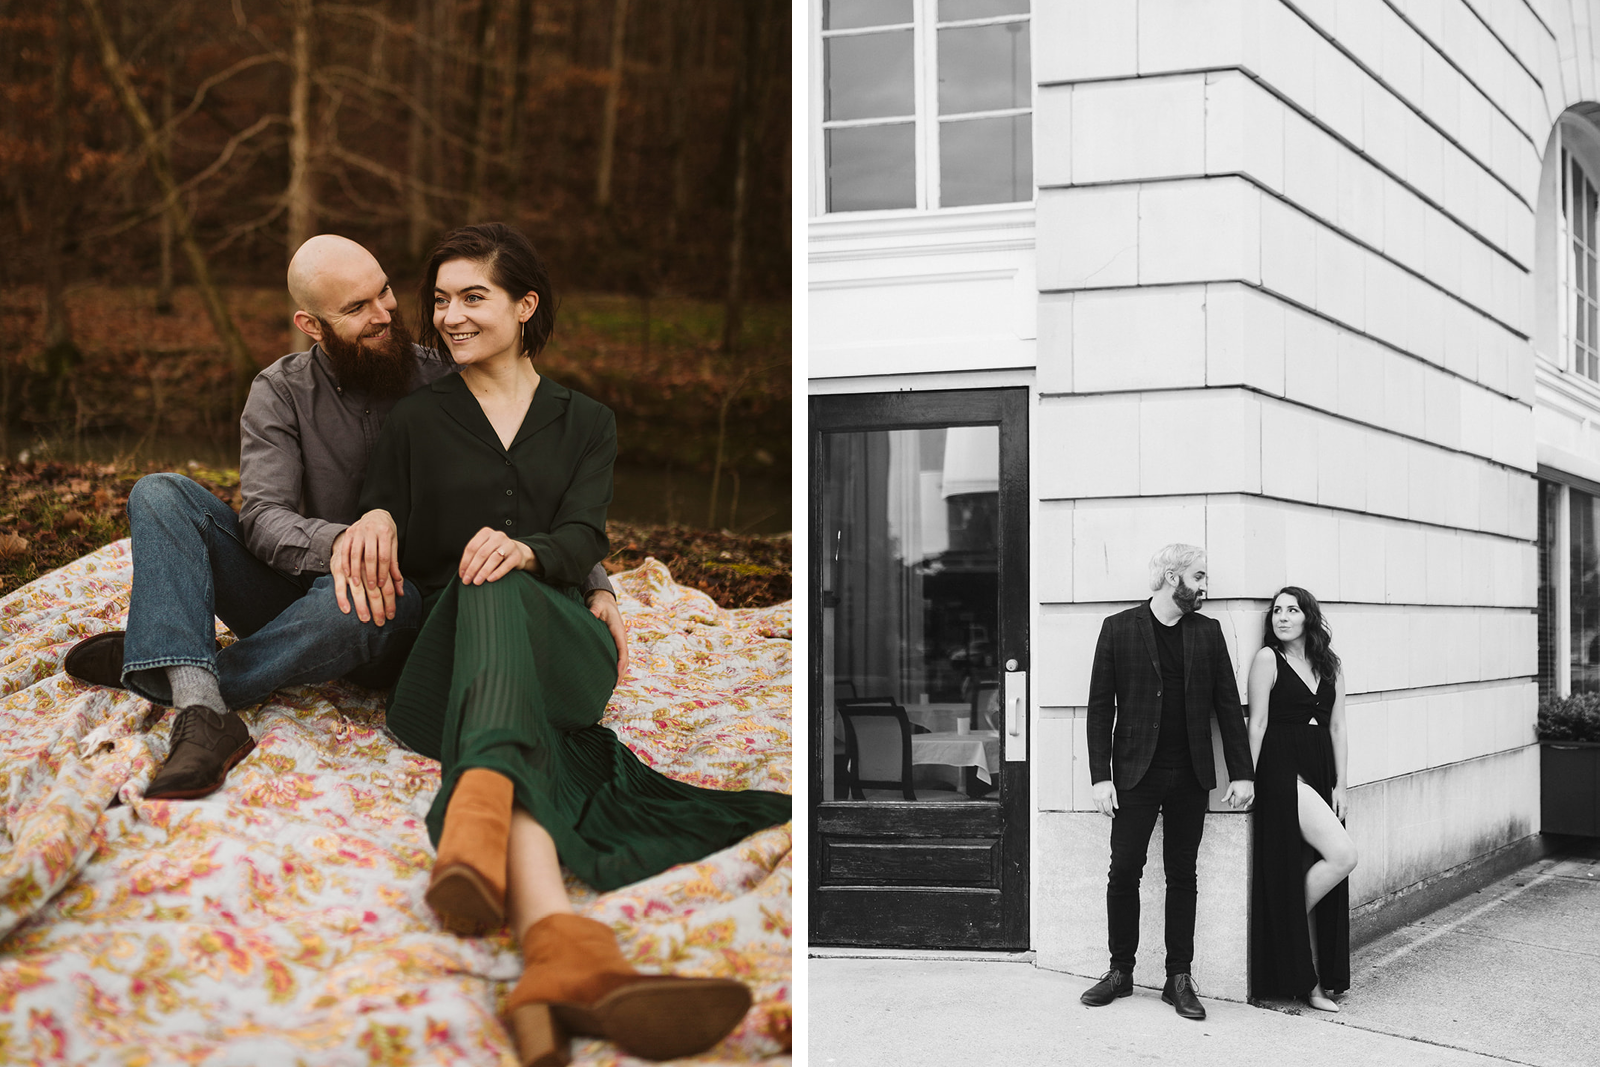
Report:
M171 749L144 795L205 797L250 755L235 713L274 689L346 678L394 683L422 597L400 573L394 525L360 515L373 442L405 394L456 370L411 344L389 277L370 251L323 234L288 270L294 325L312 339L261 371L240 416L238 515L197 482L154 474L133 486L128 630L67 653L66 672L178 707ZM589 609L627 637L602 568ZM218 649L214 619L238 637Z

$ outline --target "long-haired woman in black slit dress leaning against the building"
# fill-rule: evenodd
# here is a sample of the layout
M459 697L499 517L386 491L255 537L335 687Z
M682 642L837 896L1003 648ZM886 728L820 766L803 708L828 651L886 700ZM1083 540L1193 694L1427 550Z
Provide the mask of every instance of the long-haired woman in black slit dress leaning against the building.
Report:
M1338 1011L1350 984L1344 673L1317 598L1283 587L1250 665L1256 763L1251 987Z

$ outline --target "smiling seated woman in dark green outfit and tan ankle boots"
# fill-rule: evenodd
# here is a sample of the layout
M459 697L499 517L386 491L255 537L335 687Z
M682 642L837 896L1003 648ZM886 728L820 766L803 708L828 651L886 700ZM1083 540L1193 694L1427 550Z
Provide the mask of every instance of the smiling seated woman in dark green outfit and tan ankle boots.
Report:
M749 990L635 973L608 926L573 913L560 865L613 889L786 822L790 798L677 782L600 726L618 651L578 582L606 552L616 422L534 370L555 318L528 238L498 222L446 235L422 301L424 339L461 373L395 405L362 510L394 520L424 595L387 721L442 765L427 902L462 934L510 918L523 1064L565 1064L571 1033L648 1059L704 1051Z

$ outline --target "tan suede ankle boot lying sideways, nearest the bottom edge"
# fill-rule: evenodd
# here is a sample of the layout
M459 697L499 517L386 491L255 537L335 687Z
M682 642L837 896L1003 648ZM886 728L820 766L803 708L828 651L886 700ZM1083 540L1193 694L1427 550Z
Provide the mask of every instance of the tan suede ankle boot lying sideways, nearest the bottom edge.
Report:
M507 1001L522 1067L562 1067L576 1033L643 1059L704 1053L750 1009L750 990L726 977L640 974L611 928L547 915L522 939L523 973Z

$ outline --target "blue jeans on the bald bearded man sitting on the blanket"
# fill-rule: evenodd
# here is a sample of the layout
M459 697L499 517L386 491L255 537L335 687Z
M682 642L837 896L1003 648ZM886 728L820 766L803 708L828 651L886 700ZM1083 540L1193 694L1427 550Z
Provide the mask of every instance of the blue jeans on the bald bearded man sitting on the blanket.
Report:
M286 685L349 678L386 688L400 675L422 621L411 582L384 625L339 611L326 574L291 577L245 547L238 515L179 474L139 478L128 496L133 598L122 681L171 704L166 667L205 667L230 709ZM238 640L216 648L216 619Z

